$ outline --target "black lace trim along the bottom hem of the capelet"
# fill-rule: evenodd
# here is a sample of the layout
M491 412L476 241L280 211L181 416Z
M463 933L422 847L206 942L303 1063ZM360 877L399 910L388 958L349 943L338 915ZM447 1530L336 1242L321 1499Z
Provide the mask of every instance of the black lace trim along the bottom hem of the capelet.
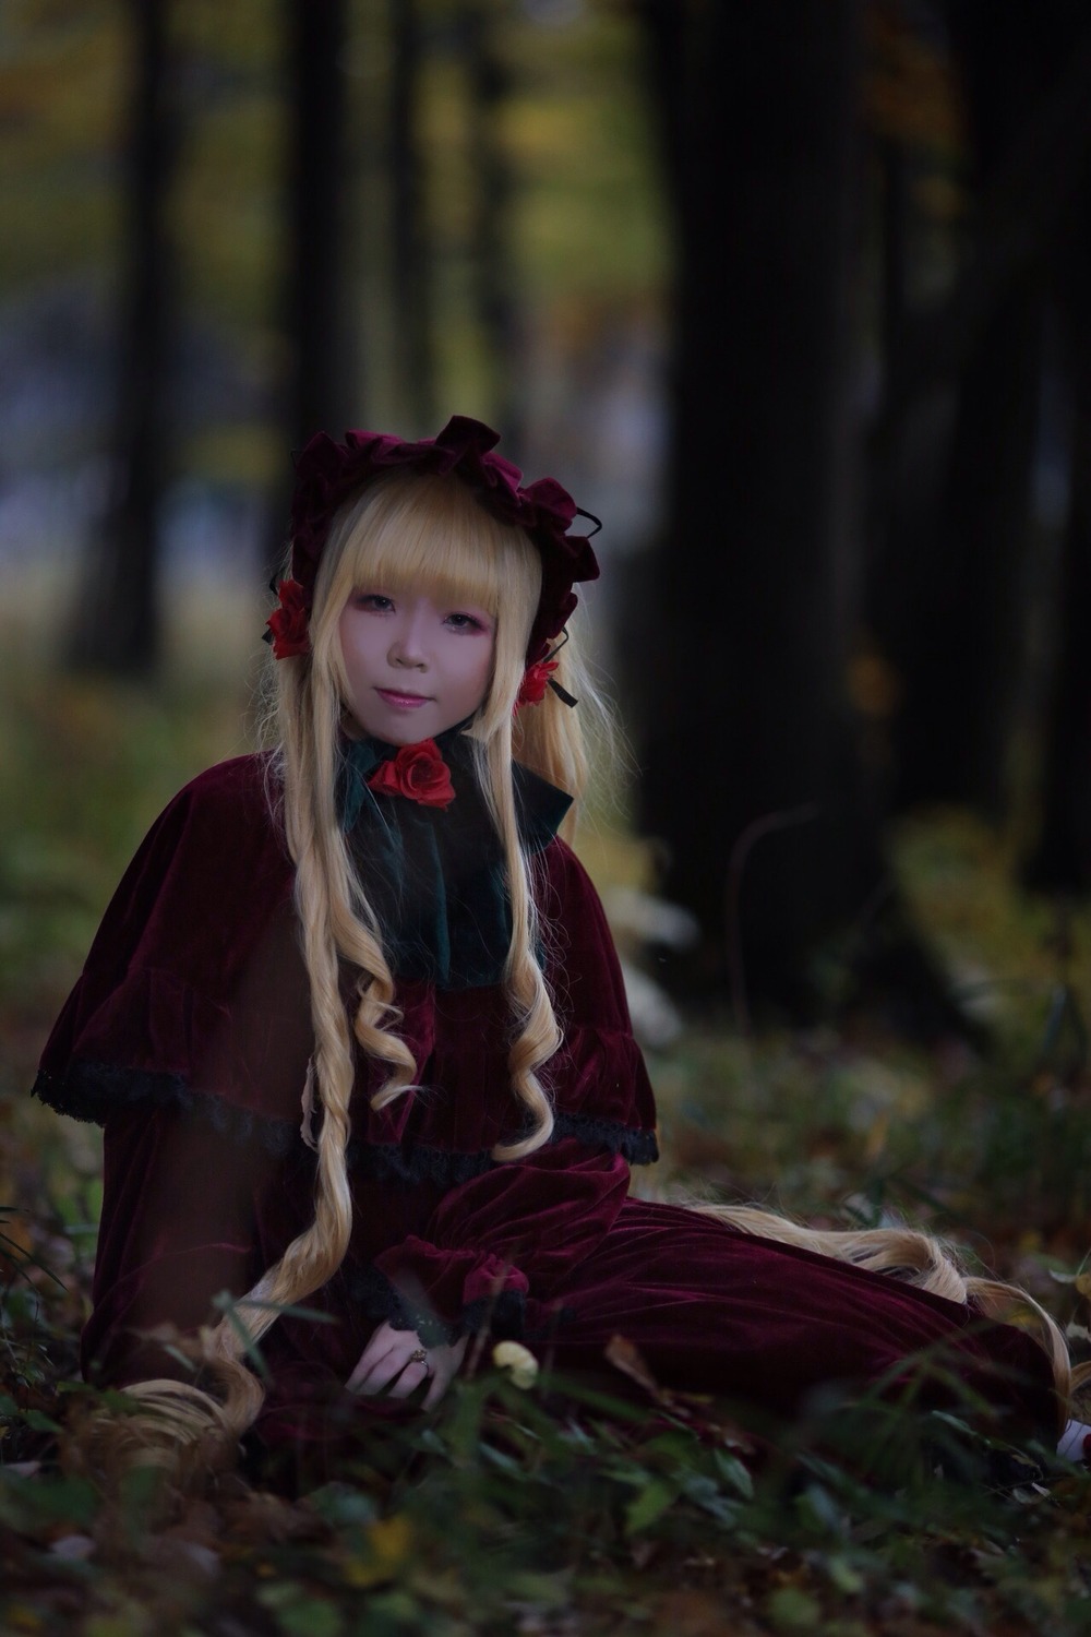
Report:
M116 1069L105 1062L77 1062L64 1080L41 1071L31 1095L49 1103L57 1113L95 1125L103 1125L113 1110L132 1108L150 1100L160 1108L208 1121L219 1136L234 1143L257 1141L278 1159L286 1159L301 1148L299 1126L293 1120L255 1115L211 1092L195 1092L180 1074ZM597 1120L592 1115L558 1115L550 1141L559 1143L564 1138L574 1138L586 1148L622 1154L630 1166L651 1166L659 1157L654 1131L636 1131L617 1120ZM451 1188L473 1177L481 1177L496 1164L487 1149L458 1154L424 1143L397 1148L394 1143L360 1141L350 1141L347 1162L350 1169L373 1177L376 1182L409 1185L430 1182Z

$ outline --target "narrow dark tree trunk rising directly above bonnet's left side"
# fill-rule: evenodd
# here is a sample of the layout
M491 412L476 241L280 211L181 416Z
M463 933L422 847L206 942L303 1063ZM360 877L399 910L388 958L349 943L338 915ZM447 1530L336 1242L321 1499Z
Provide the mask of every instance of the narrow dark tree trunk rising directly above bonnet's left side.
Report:
M343 288L345 0L288 0L291 87L286 327L293 447L353 424Z

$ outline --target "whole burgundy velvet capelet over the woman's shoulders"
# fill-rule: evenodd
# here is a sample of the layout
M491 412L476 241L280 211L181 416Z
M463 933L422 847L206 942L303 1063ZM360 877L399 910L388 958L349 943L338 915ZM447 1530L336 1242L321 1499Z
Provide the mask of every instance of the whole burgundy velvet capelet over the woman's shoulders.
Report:
M384 907L399 910L391 954L399 1033L422 1085L376 1113L366 1095L381 1084L383 1069L360 1062L350 1164L375 1175L427 1174L456 1184L487 1169L489 1149L519 1136L520 1121L505 1069L510 1021L496 984L496 949L507 938L489 891L496 856L483 850L474 797L458 758L451 760L460 794L448 812L422 815L401 797L368 797L366 822L350 837L381 922L389 925ZM34 1094L59 1112L105 1123L123 1108L168 1107L276 1154L303 1143L309 999L294 869L275 800L270 805L270 778L265 756L221 763L180 791L154 823L41 1059ZM564 1046L543 1076L556 1105L556 1139L581 1136L630 1162L648 1162L656 1157L653 1100L610 933L581 864L553 838L566 805L561 792L517 769L546 981L564 1030ZM417 853L422 845L435 850L437 838L445 848L451 838L451 856L437 864L450 900L438 923L427 879L412 891L412 876L402 873L391 886L391 861L402 845L391 837L391 817L404 820L402 830L430 827L430 838L414 843Z

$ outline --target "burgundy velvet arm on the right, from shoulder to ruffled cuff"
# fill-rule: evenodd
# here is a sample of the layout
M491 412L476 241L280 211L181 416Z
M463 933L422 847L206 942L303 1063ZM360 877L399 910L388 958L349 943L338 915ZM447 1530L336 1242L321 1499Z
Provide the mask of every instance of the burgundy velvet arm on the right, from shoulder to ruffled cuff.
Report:
M556 1131L520 1161L443 1195L427 1229L376 1259L401 1298L393 1323L435 1334L487 1311L519 1333L523 1298L550 1300L608 1234L630 1161L656 1157L654 1102L599 897L554 841L537 887L564 1044L548 1064ZM510 1094L509 1094L510 1097Z

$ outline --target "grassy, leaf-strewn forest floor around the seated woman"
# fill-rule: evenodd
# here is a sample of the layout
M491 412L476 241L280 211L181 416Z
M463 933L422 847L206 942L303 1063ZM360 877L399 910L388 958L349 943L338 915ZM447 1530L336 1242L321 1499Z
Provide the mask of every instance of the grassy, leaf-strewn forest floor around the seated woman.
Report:
M87 1403L98 1154L23 1092L146 823L244 748L244 694L196 674L139 694L46 676L18 643L0 758L0 1630L129 1634L1076 1634L1091 1626L1091 1481L990 1454L959 1418L816 1406L752 1429L654 1388L520 1391L487 1354L438 1416L376 1431L366 1465L298 1499L240 1477L170 1508L56 1460ZM604 879L630 840L595 838ZM662 1177L826 1221L901 1211L1014 1272L1062 1323L1086 1249L1086 925L1058 954L1004 850L959 815L898 838L903 884L990 1000L983 1059L855 1028L743 1043L689 1033L653 1061ZM1065 1007L1058 1000L1065 999ZM1060 1278L1057 1277L1060 1275ZM1068 1280L1068 1282L1065 1282ZM942 1465L944 1477L936 1477ZM999 1480L1004 1480L1003 1483ZM152 1526L152 1519L157 1519Z

